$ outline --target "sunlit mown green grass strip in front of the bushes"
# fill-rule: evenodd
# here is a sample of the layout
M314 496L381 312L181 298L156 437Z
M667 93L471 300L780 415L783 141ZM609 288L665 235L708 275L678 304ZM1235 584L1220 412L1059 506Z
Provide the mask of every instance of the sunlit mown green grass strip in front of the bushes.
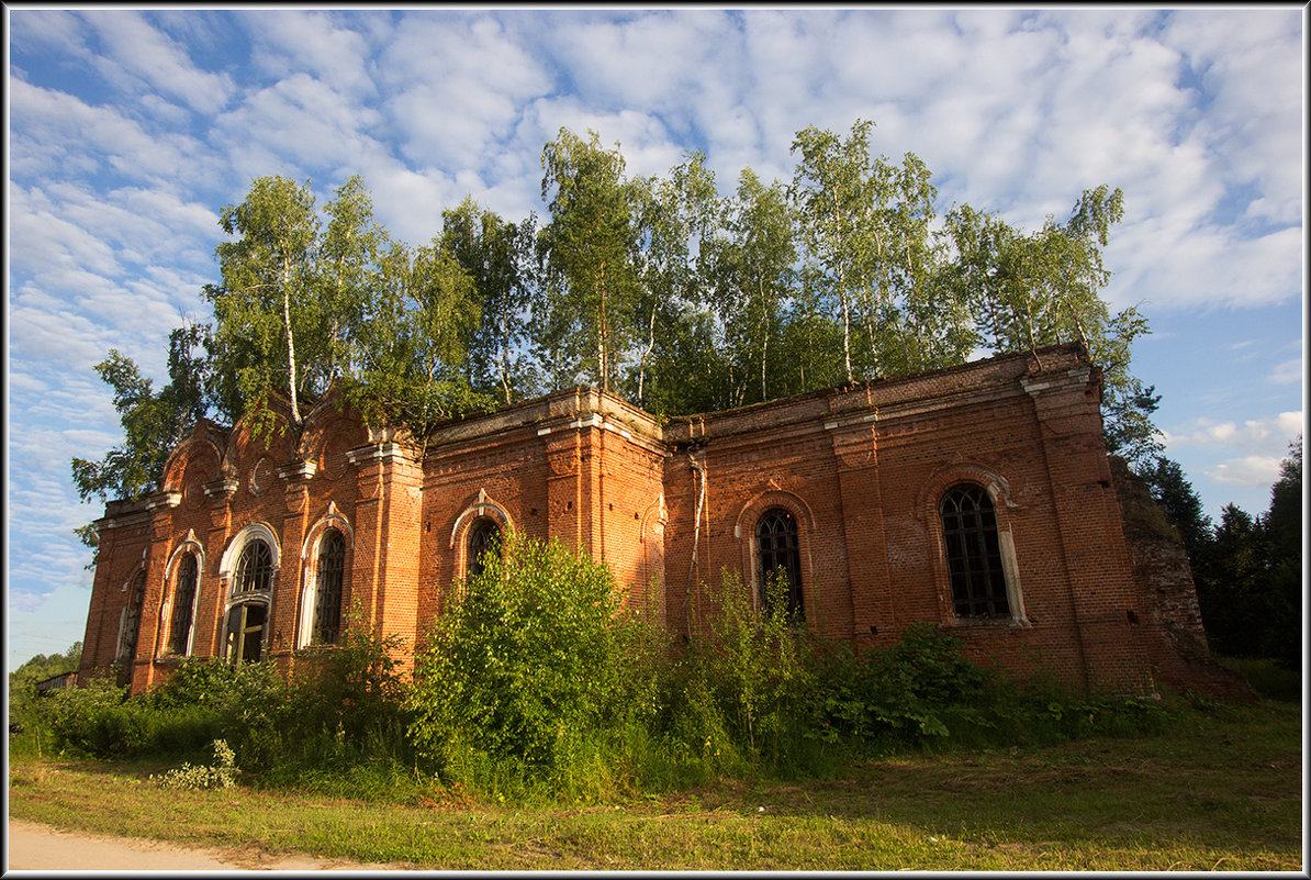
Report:
M229 788L10 754L9 814L184 845L448 870L1299 871L1297 704L1205 704L1160 736L906 754L822 782L517 807Z

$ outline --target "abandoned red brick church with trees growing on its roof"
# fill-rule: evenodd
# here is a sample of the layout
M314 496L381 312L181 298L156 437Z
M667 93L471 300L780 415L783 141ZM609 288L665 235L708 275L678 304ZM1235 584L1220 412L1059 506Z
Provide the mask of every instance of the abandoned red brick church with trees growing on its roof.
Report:
M931 622L975 658L1086 690L1224 691L1186 557L1103 443L1079 345L657 420L591 388L420 447L330 392L271 442L202 422L159 492L111 502L80 677L288 657L372 627L413 647L497 532L603 560L696 637L724 570L775 569L817 635ZM1137 494L1135 494L1137 493ZM351 615L354 619L347 619Z

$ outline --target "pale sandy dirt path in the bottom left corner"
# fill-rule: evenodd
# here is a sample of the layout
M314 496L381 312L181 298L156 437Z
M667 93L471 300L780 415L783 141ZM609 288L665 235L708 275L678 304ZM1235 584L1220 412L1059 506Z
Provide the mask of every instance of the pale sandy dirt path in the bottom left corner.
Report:
M389 871L311 855L269 855L246 849L189 849L135 837L66 831L9 820L8 871Z

